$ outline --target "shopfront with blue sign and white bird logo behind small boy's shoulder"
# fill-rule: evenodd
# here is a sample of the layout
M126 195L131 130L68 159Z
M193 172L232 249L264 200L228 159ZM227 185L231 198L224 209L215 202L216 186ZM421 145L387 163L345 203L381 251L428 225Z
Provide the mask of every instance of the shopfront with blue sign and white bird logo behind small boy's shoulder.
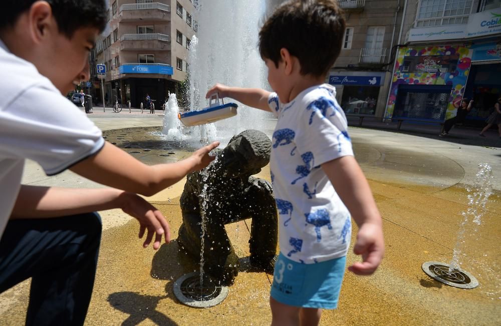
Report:
M336 87L337 100L347 114L375 115L384 99L384 72L333 72L329 84ZM355 75L356 74L356 75ZM384 102L384 100L383 100ZM381 108L382 103L379 105Z

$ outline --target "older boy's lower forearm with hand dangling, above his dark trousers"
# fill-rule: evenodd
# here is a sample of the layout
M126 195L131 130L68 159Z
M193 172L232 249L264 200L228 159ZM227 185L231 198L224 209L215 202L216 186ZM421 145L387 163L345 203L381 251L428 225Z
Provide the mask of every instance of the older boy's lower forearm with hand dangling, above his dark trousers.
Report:
M139 237L147 230L143 246L153 237L153 248L160 247L162 235L170 241L169 224L163 214L142 197L112 188L74 189L22 185L11 219L51 218L121 208L139 221Z

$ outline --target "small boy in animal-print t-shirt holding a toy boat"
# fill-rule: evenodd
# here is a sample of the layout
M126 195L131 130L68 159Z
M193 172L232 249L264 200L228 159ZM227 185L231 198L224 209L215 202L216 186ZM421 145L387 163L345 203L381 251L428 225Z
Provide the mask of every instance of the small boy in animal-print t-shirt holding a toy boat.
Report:
M334 87L324 84L344 30L334 0L287 2L260 32L275 93L220 84L207 92L278 118L270 159L281 251L270 298L273 325L318 324L322 308L337 307L351 217L359 227L354 252L363 261L349 270L370 275L384 253L381 216L353 156L345 114Z

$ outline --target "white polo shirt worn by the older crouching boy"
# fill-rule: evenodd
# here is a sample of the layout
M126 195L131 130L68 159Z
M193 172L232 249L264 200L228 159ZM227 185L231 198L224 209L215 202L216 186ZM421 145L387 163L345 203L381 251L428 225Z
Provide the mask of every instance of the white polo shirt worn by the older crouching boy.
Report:
M57 63L54 63L57 64ZM30 62L0 40L0 237L21 186L25 159L58 174L98 152L102 132Z

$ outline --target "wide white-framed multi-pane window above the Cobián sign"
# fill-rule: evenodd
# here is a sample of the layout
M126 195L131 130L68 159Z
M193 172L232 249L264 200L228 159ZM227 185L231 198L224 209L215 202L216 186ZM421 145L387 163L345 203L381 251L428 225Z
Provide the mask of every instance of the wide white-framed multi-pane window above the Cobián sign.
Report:
M421 0L416 27L466 24L472 0Z

